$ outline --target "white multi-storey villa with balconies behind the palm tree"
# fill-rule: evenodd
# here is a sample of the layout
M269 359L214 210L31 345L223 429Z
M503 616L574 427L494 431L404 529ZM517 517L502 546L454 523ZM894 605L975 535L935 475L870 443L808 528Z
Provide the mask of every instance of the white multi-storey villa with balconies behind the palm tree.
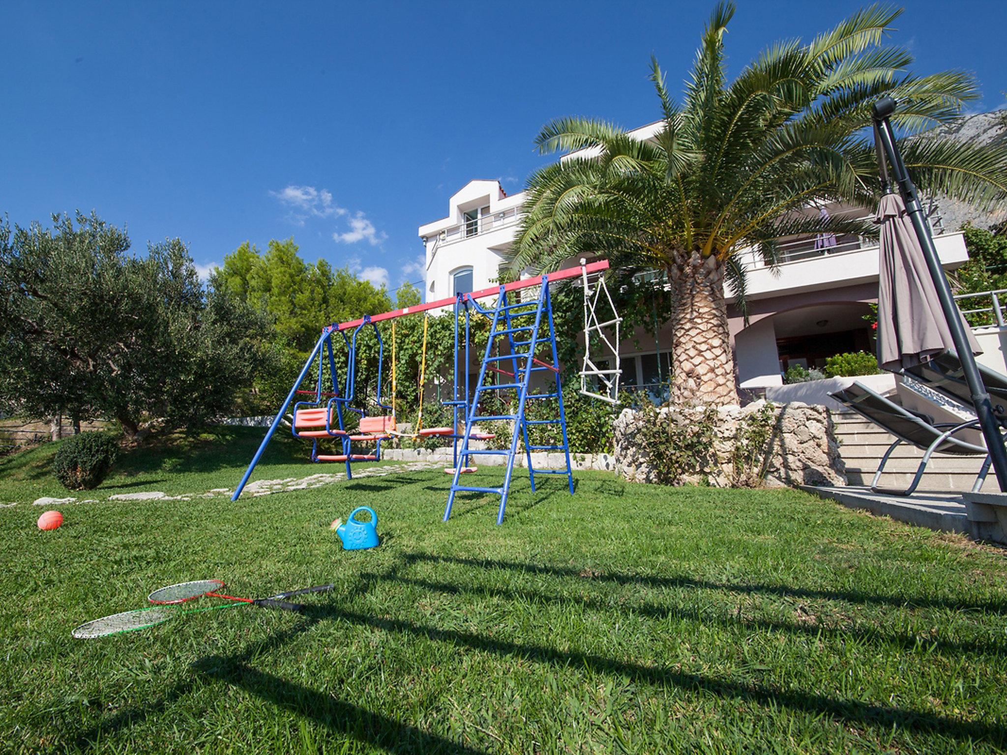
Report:
M660 127L651 124L632 133L646 139ZM494 285L524 200L525 192L509 196L497 181L472 180L448 199L445 217L420 225L426 248L427 301ZM945 233L936 207L930 209L938 252L945 268L952 270L968 260L964 237ZM865 214L862 209L833 205L808 211ZM834 354L871 349L864 315L877 301L877 243L812 235L781 240L780 249L783 262L777 271L767 269L754 253L743 253L748 270L747 325L729 305L738 387L749 396L781 386L789 365L821 367ZM625 387L651 388L667 381L670 344L667 329L657 338L642 330L625 333L621 349Z

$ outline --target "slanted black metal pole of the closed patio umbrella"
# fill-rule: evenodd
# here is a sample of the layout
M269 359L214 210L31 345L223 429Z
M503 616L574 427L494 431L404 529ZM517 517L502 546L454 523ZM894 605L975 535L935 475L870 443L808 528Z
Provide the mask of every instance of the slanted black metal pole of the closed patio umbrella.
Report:
M955 342L955 350L958 351L958 358L962 362L962 371L965 373L966 383L968 383L969 391L972 393L972 403L976 407L976 416L983 429L986 448L989 450L990 459L993 462L993 471L997 475L1001 492L1007 491L1007 450L1004 449L1003 438L1000 435L996 418L993 416L990 395L986 392L986 386L983 385L982 375L979 374L976 357L972 353L972 346L969 345L962 317L951 293L951 286L948 285L948 277L945 275L944 268L941 267L941 260L938 257L937 248L933 246L930 229L923 216L923 208L919 203L916 186L909 177L909 172L905 169L905 163L902 162L902 156L895 145L891 124L888 122L888 118L895 112L895 101L890 97L878 100L874 104L872 112L874 124L877 127L874 132L875 139L879 139L884 147L895 182L898 184L902 200L905 202L909 220L912 222L916 238L919 240L926 268L930 272L930 278L933 279L933 286L937 289L938 298L941 300L941 309L944 310L945 319L948 320L948 328L951 330L951 337ZM878 157L880 159L881 156ZM882 175L887 177L883 162L879 167L882 168Z

